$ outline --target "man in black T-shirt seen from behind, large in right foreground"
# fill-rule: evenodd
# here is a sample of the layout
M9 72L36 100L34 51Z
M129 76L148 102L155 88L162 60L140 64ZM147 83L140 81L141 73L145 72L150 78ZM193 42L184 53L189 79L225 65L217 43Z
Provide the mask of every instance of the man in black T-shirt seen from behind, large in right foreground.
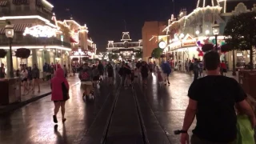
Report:
M219 74L220 58L218 52L210 51L204 55L207 76L195 79L189 90L189 104L186 108L180 142L189 141L187 130L194 118L196 126L191 144L235 144L237 137L236 104L250 119L251 128L255 126L254 111L246 102L246 93L234 78Z

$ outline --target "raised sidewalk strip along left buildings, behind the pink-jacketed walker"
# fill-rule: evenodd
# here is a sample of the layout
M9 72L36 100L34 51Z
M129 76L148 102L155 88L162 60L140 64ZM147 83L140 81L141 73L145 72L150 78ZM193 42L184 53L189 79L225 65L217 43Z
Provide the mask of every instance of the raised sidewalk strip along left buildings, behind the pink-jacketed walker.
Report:
M67 78L70 86L74 86L75 84L77 84L78 78L76 76L73 77L69 77ZM26 106L27 104L29 104L30 102L34 102L37 101L40 98L44 98L47 95L51 94L51 90L50 90L50 82L44 82L42 81L40 83L40 93L38 93L38 87L35 86L34 88L34 93L32 93L30 91L30 94L26 94L26 95L21 95L21 102L15 102L12 103L10 105L6 105L6 106L0 106L0 114L5 114L8 113L12 110L16 110L22 106ZM22 89L22 94L23 94L23 89Z

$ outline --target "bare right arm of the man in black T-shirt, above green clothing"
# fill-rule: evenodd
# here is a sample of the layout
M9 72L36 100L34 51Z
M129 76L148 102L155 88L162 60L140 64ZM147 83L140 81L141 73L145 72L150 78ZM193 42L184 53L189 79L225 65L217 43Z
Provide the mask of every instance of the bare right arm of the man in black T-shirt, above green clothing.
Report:
M255 126L255 115L254 111L251 109L250 105L246 100L242 100L241 102L237 102L238 110L241 110L244 114L246 114L250 118L251 126L254 128Z

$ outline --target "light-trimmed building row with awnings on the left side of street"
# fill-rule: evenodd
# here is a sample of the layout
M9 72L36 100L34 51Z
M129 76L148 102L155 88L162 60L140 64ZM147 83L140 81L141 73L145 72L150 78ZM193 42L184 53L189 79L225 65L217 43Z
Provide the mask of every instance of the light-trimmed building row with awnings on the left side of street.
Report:
M72 50L78 47L88 50L88 27L79 25L72 18L58 21L53 8L46 0L0 1L0 49L9 50L9 40L5 35L6 21L9 21L14 25L12 49L31 50L27 59L16 58L12 52L14 70L18 70L20 64L37 64L42 71L45 62L68 66ZM0 58L0 61L9 69L7 59L10 58Z

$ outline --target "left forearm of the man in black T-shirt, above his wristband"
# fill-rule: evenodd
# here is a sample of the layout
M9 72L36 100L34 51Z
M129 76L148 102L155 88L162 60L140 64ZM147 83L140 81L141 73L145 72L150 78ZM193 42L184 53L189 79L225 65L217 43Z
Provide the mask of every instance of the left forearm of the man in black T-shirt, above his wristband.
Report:
M189 105L186 108L185 118L183 122L182 130L189 130L192 122L194 121L194 117L196 111L198 109L198 102L190 98Z

